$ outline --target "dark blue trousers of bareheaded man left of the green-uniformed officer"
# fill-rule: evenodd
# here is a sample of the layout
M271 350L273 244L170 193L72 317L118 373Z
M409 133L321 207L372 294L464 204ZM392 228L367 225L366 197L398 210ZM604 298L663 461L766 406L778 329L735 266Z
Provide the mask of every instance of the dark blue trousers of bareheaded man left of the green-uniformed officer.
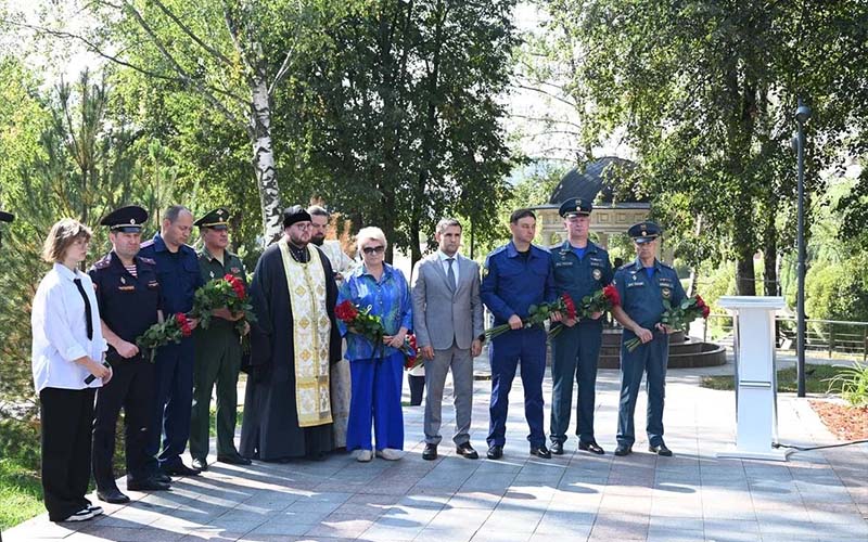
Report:
M190 437L190 413L193 406L193 353L192 337L181 339L179 345L161 347L154 362L156 429L148 447L149 455L159 452L159 465L178 465ZM163 436L162 452L159 438Z

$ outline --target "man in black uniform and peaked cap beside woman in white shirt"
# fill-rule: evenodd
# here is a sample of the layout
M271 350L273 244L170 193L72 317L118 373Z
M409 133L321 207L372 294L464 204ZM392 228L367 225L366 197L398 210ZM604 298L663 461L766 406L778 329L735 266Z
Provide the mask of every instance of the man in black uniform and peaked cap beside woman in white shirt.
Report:
M138 256L142 224L148 211L131 205L108 214L100 224L110 228L112 251L90 269L100 306L102 334L108 343L105 360L114 377L97 392L93 420L93 477L97 496L110 503L129 498L117 489L112 469L115 427L124 409L127 462L127 489L154 491L169 489L152 479L156 460L148 455L148 439L153 431L154 366L136 345L139 337L159 318L159 281L154 260Z

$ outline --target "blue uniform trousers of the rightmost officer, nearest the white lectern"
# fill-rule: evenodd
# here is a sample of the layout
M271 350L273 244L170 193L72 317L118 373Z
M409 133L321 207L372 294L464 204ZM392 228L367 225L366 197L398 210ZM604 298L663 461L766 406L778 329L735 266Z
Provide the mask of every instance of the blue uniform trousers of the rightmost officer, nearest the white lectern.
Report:
M633 334L630 334L630 337ZM630 338L625 336L626 338ZM654 331L653 340L639 345L633 352L621 345L621 404L617 411L617 442L633 446L636 431L633 424L636 398L642 384L642 372L648 373L648 443L663 443L663 398L666 389L666 363L669 358L668 335Z

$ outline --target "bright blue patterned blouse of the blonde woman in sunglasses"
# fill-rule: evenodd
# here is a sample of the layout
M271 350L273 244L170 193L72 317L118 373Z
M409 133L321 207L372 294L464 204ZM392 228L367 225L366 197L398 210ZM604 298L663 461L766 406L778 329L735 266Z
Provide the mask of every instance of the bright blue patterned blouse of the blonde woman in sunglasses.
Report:
M361 309L370 307L370 313L383 321L386 335L395 335L400 327L406 327L408 331L413 328L413 305L407 279L388 263L383 263L383 274L379 281L365 269L365 266L356 268L344 279L337 291L337 305L347 299ZM348 360L386 358L397 351L385 345L379 348L379 345L372 345L361 335L347 333L343 321L337 321L337 327L341 330L341 335L346 336Z

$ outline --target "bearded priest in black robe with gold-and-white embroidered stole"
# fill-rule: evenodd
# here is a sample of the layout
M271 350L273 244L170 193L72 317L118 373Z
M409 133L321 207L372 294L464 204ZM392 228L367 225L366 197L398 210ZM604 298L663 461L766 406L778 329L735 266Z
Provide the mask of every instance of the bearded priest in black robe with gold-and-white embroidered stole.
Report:
M303 207L283 211L283 233L263 253L250 287L257 321L240 452L260 461L320 460L334 449L329 372L341 360L337 287L329 258L309 244Z

